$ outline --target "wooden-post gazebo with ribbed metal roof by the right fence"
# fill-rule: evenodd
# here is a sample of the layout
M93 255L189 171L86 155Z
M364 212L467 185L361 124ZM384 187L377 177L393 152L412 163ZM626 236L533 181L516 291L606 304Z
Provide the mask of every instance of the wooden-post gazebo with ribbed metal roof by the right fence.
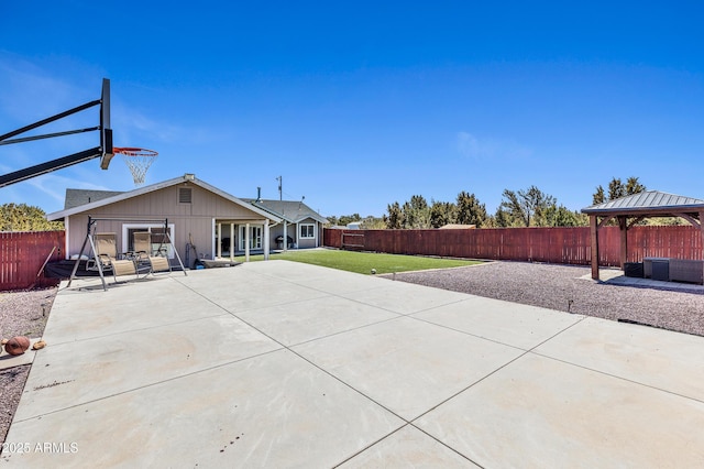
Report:
M616 219L620 230L620 268L628 254L627 232L638 221L652 217L681 217L698 228L704 246L704 200L658 190L608 200L582 209L590 216L592 279L598 280L598 230L609 220Z

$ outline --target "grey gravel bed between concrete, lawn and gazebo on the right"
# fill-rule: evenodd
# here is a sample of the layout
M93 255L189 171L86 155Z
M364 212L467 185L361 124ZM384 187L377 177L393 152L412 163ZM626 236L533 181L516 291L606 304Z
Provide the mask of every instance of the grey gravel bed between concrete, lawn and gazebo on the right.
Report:
M575 265L490 262L469 268L396 274L396 280L550 309L632 320L704 336L704 291L613 285L580 279Z

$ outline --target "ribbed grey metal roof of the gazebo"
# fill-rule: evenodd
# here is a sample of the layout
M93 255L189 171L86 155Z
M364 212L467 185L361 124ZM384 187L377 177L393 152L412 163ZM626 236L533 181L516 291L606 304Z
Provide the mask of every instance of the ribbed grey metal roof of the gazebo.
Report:
M583 208L582 212L590 215L659 215L698 212L700 210L704 210L704 200L702 199L646 190Z

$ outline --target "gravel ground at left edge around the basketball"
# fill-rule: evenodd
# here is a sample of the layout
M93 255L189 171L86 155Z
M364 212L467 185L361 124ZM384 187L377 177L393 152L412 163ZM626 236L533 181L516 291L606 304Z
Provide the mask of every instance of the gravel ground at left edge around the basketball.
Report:
M56 292L57 288L0 292L0 336L42 337ZM0 443L8 434L29 374L29 364L0 371Z

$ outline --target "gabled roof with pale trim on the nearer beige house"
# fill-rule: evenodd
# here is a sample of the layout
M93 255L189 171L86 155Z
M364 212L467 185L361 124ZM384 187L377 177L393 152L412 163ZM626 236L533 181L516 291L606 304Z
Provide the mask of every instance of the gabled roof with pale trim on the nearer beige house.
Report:
M270 220L273 221L282 221L282 218L276 216L275 214L272 214L268 210L264 210L261 207L257 206L253 206L252 204L248 204L246 201L234 197L233 195L230 195L228 193L226 193L224 190L221 190L219 188L217 188L216 186L211 186L210 184L200 181L198 178L196 178L195 176L190 175L190 174L186 174L184 176L179 176L179 177L174 177L173 179L168 179L168 181L164 181L162 183L156 183L156 184L152 184L150 186L144 186L144 187L139 187L134 190L129 190L129 192L123 192L123 193L113 193L113 195L108 195L107 193L109 193L108 190L88 190L87 193L92 193L94 195L97 193L98 195L106 195L106 197L103 198L99 198L97 200L91 199L91 201L88 201L87 204L82 204L82 205L77 205L77 206L73 206L73 207L68 207L68 208L64 208L63 210L59 211L55 211L53 214L48 214L46 216L46 219L50 221L53 220L61 220L65 217L69 217L72 215L76 215L76 214L81 214L84 211L87 210L92 210L99 207L105 207L107 205L110 204L116 204L118 201L122 201L122 200L127 200L133 197L139 197L141 195L144 194L148 194L155 190L161 190L164 189L166 187L170 187L170 186L175 186L178 184L183 184L184 181L189 182L196 186L202 187L206 190L210 190L213 194L219 195L220 197L232 201L233 204L240 205L246 209L250 209L252 211L254 211L257 215L261 215L262 217L265 217ZM72 194L72 198L76 199L76 200L86 200L86 194L80 194L80 189L72 189L72 190L76 190L76 193ZM67 190L67 195L68 195L68 190ZM68 205L68 201L66 203L66 205Z

